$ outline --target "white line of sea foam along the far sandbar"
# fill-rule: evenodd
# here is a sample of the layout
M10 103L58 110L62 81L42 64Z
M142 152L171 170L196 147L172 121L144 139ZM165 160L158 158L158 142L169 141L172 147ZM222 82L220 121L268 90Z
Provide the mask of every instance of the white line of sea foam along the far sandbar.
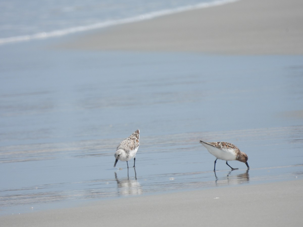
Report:
M178 12L184 12L184 11L188 11L188 10L192 10L192 9L224 5L227 3L237 2L237 1L240 1L240 0L217 0L217 1L209 2L209 3L204 2L204 3L197 4L197 5L187 5L187 6L173 8L173 9L165 9L165 10L150 12L150 13L137 15L137 16L129 17L129 18L103 21L100 23L95 23L95 24L87 25L87 26L78 26L78 27L60 29L60 30L49 31L49 32L40 32L40 33L36 33L33 35L22 35L22 36L8 37L8 38L0 38L0 45L14 43L14 42L35 40L35 39L58 37L58 36L68 35L68 34L72 34L72 33L76 33L76 32L89 31L89 30L98 29L98 28L106 28L106 27L113 26L113 25L121 25L121 24L126 24L126 23L131 23L131 22L148 20L148 19L152 19L152 18L164 16L164 15L169 15L169 14L173 14L173 13L178 13Z

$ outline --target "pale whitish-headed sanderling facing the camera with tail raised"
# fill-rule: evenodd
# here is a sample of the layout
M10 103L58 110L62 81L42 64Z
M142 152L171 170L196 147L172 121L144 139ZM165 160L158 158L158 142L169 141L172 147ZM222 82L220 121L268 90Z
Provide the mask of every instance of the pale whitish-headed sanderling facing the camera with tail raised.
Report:
M115 165L116 166L118 160L126 161L127 168L128 168L128 162L132 158L134 158L134 166L135 167L135 155L137 153L138 147L139 147L139 133L140 131L137 130L134 133L132 133L131 136L123 140L117 147L116 153L115 153Z

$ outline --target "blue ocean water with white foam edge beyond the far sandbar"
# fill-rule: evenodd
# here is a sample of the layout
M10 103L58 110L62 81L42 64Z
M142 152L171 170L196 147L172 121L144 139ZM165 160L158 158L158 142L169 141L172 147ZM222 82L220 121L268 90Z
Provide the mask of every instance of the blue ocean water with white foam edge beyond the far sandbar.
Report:
M45 39L238 0L0 2L0 44Z

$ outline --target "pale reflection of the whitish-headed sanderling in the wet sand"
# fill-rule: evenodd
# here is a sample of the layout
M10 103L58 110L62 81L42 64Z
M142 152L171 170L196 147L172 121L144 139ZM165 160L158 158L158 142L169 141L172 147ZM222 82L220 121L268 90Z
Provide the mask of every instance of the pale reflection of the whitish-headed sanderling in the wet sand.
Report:
M135 168L134 168L135 169ZM143 190L141 184L137 181L137 174L135 169L135 179L129 178L127 169L127 178L118 179L115 172L115 179L117 181L118 194L122 196L141 195Z

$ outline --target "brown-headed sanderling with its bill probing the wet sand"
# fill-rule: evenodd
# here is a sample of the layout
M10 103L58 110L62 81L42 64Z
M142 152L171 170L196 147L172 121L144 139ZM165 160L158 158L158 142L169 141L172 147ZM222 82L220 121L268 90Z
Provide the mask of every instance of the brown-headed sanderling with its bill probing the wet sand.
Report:
M227 142L203 142L200 140L200 143L205 146L209 153L215 156L217 159L226 160L226 165L228 165L227 161L237 160L240 162L244 162L249 169L247 160L248 156L241 152L237 146L232 143ZM216 162L214 171L216 170ZM230 165L228 165L231 170L234 170ZM237 168L238 169L238 168Z

